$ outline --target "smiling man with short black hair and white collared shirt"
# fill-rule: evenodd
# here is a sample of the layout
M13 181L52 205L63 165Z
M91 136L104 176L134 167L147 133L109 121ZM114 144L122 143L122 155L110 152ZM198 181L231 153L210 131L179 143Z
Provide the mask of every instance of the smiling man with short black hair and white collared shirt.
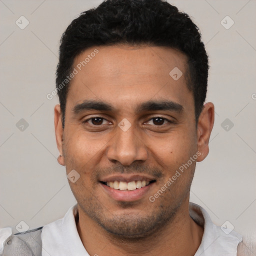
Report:
M236 255L241 236L189 203L214 122L207 75L198 28L165 1L107 0L74 19L54 123L77 204L36 230L2 230L3 255Z

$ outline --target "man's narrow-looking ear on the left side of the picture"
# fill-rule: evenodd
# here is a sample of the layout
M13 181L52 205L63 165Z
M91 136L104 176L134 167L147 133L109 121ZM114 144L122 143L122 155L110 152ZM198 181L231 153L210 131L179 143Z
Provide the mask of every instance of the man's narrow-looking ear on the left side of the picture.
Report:
M55 105L54 107L54 126L55 126L55 137L57 142L57 148L60 154L60 156L58 156L58 163L61 165L65 165L65 160L63 156L63 150L62 150L63 128L62 128L62 118L61 118L61 111L60 111L59 104Z

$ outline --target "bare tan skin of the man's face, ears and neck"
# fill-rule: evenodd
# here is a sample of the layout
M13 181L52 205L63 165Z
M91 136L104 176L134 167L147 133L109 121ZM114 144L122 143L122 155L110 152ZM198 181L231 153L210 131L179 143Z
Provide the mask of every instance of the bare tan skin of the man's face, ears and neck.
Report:
M81 241L90 255L194 255L203 233L188 212L195 161L154 202L148 198L196 152L197 161L207 156L214 106L204 104L196 126L193 95L186 85L186 56L175 49L92 47L79 54L73 66L95 48L98 53L71 80L64 129L60 106L54 109L62 155L58 162L67 174L75 169L80 175L69 184L78 202ZM169 75L174 67L183 73L178 80ZM103 101L114 109L74 113L84 100ZM136 111L148 100L171 100L182 111ZM94 116L103 119L92 122L89 118ZM126 131L118 126L123 118L131 124ZM117 173L146 174L155 182L138 199L116 200L99 181Z

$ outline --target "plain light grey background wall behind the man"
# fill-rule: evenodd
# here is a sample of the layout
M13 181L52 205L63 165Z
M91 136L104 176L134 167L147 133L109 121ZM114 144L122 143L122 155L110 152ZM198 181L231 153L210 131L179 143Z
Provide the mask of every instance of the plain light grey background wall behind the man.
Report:
M54 89L62 32L100 2L0 0L0 227L15 230L21 220L29 228L41 226L75 203L65 168L56 160L53 107L58 100L46 94ZM169 2L199 26L211 66L207 101L215 104L215 124L209 155L197 163L191 201L218 225L228 220L255 238L256 1ZM29 21L24 29L15 24L21 15ZM234 21L229 29L222 25L232 22L226 15Z

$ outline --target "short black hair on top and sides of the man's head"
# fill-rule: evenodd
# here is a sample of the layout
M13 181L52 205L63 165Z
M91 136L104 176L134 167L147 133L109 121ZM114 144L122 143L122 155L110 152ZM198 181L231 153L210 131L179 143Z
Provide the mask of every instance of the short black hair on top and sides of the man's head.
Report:
M187 86L193 93L198 121L207 91L208 56L198 27L189 16L165 0L105 0L82 12L60 39L56 89L62 127L73 60L92 46L114 44L168 46L187 56ZM64 83L63 86L63 81ZM62 86L59 86L62 84ZM61 89L60 89L61 87Z

